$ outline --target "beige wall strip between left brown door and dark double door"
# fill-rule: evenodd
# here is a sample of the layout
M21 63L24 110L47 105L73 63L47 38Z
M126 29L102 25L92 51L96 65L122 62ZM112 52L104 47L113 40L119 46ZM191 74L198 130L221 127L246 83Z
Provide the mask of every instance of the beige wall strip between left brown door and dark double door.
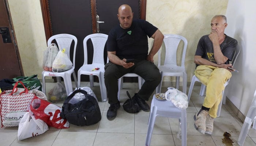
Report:
M44 23L39 0L8 0L25 76L41 78L46 49Z

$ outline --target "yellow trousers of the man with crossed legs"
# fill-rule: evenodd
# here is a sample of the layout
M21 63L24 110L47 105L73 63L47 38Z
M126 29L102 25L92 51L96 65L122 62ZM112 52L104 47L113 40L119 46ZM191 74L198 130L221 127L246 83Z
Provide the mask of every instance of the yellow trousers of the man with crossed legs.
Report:
M222 99L222 91L225 82L231 78L229 70L210 65L199 65L195 70L195 76L206 85L206 96L203 106L210 108L209 115L217 117L218 105Z

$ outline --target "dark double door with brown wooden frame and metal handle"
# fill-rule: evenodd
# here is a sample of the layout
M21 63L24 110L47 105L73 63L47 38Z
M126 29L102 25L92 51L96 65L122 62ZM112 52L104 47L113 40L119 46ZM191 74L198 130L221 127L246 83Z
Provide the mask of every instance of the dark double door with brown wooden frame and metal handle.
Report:
M117 25L117 10L121 4L129 4L134 12L134 19L146 19L146 0L41 0L45 25L46 40L52 35L68 33L78 38L76 47L75 72L83 65L83 39L97 33L96 16L100 17L99 33L108 34ZM88 63L92 62L93 47L89 42ZM71 55L72 56L72 55ZM105 49L105 61L106 61ZM89 77L82 76L82 81Z

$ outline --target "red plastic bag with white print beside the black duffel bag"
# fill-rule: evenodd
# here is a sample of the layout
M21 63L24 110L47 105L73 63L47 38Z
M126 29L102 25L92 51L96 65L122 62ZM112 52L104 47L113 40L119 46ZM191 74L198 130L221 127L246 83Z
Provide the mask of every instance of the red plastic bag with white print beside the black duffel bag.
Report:
M67 119L60 117L61 107L55 104L34 97L31 101L30 110L33 112L35 119L43 120L48 126L58 129L69 128Z

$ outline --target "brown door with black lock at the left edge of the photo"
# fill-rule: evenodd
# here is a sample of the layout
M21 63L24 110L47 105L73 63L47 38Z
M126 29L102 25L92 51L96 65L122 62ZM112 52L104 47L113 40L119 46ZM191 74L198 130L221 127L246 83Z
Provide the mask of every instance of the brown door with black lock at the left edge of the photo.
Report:
M0 80L24 76L7 0L0 0Z

